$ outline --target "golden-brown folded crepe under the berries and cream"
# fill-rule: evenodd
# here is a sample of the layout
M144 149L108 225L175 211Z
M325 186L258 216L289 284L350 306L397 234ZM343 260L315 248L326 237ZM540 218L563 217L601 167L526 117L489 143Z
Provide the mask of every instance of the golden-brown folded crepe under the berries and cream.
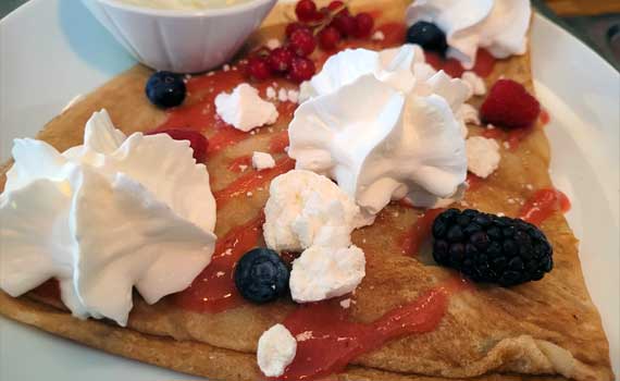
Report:
M354 7L363 8L363 1ZM382 2L382 21L401 21L405 7L406 1L400 0ZM282 23L286 12L289 9L276 8L265 25ZM252 41L282 34L282 25L263 27ZM112 79L49 122L38 138L61 151L79 145L86 121L102 108L127 134L152 130L165 114L144 96L150 73L136 66ZM500 75L533 93L529 56L498 62L486 78L487 85ZM474 106L478 102L480 99ZM284 128L286 123L280 123L273 134ZM480 133L480 127L470 126L471 135ZM265 136L252 136L209 160L214 189L232 181L225 163L264 148ZM517 150L501 148L499 169L480 189L468 193L464 201L480 210L517 216L519 200L528 199L532 188L551 186L549 156L545 134L536 128ZM245 202L228 202L220 209L218 236L258 214L266 197L266 190L257 192ZM376 320L448 276L447 270L425 256L402 256L397 249L396 236L411 226L420 212L390 205L374 225L355 232L354 242L367 253L368 265L351 305L351 319ZM554 270L542 281L511 288L483 285L454 295L435 331L393 341L328 379L611 380L608 343L584 285L578 241L560 213L546 220L542 229L554 246L555 260ZM295 308L292 302L281 300L197 314L175 306L170 298L149 306L136 296L134 303L128 327L120 328L108 321L78 320L53 300L34 294L12 298L0 292L0 314L11 319L109 353L216 380L261 379L255 355L258 339Z

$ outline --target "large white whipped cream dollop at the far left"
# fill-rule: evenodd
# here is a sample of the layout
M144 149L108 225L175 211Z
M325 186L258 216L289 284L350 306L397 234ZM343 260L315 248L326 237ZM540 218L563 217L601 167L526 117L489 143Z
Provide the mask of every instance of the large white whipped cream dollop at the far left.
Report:
M79 318L125 325L135 286L149 304L185 290L214 249L215 200L189 142L126 137L106 110L64 152L16 139L0 195L0 287L50 278Z

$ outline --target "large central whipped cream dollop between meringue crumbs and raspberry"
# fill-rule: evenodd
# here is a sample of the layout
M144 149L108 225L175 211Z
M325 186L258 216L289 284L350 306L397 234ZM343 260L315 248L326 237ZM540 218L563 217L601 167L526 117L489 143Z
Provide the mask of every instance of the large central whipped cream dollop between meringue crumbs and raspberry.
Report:
M372 218L390 200L438 207L464 189L457 118L471 89L435 72L417 46L345 50L302 87L289 125L296 168L334 179Z

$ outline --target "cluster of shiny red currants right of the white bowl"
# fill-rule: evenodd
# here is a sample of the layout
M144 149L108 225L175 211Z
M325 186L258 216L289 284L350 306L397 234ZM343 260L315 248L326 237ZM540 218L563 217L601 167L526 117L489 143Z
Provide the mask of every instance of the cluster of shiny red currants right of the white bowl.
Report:
M257 81L283 75L295 82L310 79L315 72L309 59L317 45L333 50L347 37L368 38L374 26L365 12L352 15L343 1L332 1L317 9L313 0L300 0L295 7L298 22L286 26L286 44L270 50L259 49L248 60L248 74Z

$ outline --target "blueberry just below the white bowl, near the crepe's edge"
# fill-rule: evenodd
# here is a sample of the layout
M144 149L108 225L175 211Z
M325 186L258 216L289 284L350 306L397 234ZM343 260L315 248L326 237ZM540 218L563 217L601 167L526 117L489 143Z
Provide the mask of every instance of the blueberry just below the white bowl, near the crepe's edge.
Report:
M185 82L183 76L171 72L157 72L147 82L147 97L154 106L168 109L183 103Z

